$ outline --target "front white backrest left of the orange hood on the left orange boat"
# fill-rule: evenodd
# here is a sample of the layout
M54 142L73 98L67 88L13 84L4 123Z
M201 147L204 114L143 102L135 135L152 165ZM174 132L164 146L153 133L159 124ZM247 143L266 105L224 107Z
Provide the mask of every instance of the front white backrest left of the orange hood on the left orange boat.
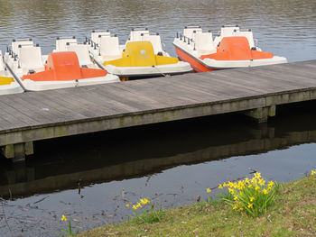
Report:
M21 68L42 68L41 47L21 47L19 48L19 63Z

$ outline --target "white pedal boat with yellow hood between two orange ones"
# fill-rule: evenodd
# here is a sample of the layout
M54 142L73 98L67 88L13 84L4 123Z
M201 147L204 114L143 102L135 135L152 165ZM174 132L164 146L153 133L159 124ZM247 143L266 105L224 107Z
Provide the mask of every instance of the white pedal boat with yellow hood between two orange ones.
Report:
M108 72L121 80L162 77L192 71L189 63L172 58L163 50L159 34L148 30L133 30L125 45L109 32L92 32L90 53Z

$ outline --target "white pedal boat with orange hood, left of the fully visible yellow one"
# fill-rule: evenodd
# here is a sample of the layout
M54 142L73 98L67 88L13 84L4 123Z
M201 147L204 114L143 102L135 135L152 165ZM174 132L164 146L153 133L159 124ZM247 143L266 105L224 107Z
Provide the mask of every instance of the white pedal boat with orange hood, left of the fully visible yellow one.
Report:
M44 63L45 61L45 63ZM56 51L42 56L32 40L13 41L5 62L24 90L39 91L119 81L104 69L80 67L75 51Z

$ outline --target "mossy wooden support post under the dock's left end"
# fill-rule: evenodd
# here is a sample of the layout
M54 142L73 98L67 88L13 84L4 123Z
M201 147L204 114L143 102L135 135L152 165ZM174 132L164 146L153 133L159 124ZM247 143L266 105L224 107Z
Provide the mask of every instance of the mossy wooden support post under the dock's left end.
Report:
M33 141L6 145L2 153L5 158L12 159L14 162L24 161L25 155L32 155L34 153Z

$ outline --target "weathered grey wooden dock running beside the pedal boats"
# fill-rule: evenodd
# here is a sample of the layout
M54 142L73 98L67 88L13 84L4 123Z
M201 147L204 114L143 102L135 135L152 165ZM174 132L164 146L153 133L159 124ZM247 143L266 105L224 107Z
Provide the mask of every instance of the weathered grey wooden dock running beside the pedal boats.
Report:
M0 96L0 147L23 160L33 141L231 112L266 122L313 99L316 60Z

